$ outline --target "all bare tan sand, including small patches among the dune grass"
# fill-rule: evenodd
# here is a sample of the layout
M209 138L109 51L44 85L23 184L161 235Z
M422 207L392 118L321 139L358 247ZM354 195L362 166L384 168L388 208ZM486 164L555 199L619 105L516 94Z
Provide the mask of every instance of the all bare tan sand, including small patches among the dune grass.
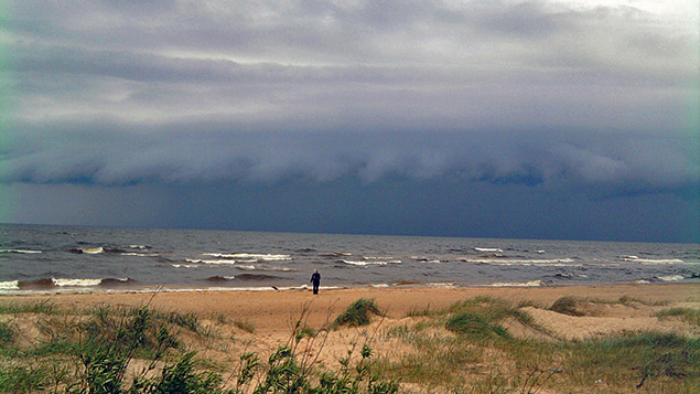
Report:
M146 306L162 311L180 313L194 312L201 318L203 327L215 331L212 339L193 334L180 337L189 349L197 355L226 365L233 375L239 356L244 352L255 352L261 360L280 345L289 343L292 323L302 310L308 310L306 326L320 330L326 322L335 319L348 305L359 298L371 298L386 311L385 318L375 318L367 327L343 328L323 332L302 341L301 354L306 360L315 360L314 365L337 370L342 358L355 344L357 349L370 342L373 353L386 360L400 360L411 354L412 348L401 339L391 336L397 326L413 327L421 318L410 318L407 313L424 309L441 309L456 301L476 296L489 296L518 305L528 302L525 310L539 327L535 330L515 321L506 322L508 331L518 337L536 337L545 340L563 338L588 338L618 331L656 330L677 332L700 338L700 326L685 322L678 318L659 319L656 312L664 309L682 307L700 310L700 284L667 285L617 285L585 287L541 287L541 288L353 288L322 289L319 296L310 290L283 291L183 291L158 294L60 294L52 296L0 296L0 302L36 302L47 300L60 308L84 310L98 305ZM595 302L585 302L586 316L572 317L548 310L557 299L566 296L580 297ZM618 302L626 297L628 302ZM603 301L603 302L601 302ZM35 318L34 318L35 320ZM36 322L31 317L22 317L15 323L23 332L24 343L41 339ZM222 323L225 321L225 323ZM248 332L243 324L254 327ZM450 336L441 328L433 328L435 334ZM143 362L133 361L132 371L139 371ZM473 365L476 372L495 368L494 365ZM480 370L481 369L481 370ZM487 372L487 371L486 371ZM465 372L466 373L466 372ZM225 376L228 376L225 374ZM233 384L227 377L227 384ZM636 382L635 382L636 383ZM426 387L416 384L402 384L407 392L424 392Z

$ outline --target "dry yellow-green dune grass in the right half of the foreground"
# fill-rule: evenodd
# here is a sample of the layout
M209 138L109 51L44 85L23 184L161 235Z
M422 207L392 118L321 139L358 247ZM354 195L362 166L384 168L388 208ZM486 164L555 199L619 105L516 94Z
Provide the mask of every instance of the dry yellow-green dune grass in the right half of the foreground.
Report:
M578 301L564 299L552 309L580 316L575 312ZM666 315L694 316L674 310L661 313ZM399 360L384 360L381 372L432 387L428 390L692 392L700 386L697 339L625 332L585 341L523 340L508 332L507 322L518 321L539 330L532 319L505 301L487 297L413 316L420 319L414 326L385 332L387 340L399 339L412 351Z

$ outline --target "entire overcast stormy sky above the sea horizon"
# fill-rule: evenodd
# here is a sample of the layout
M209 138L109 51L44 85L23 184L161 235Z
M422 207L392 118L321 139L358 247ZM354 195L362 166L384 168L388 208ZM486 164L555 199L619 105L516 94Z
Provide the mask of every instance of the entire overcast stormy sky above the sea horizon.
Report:
M0 222L700 243L699 7L0 0Z

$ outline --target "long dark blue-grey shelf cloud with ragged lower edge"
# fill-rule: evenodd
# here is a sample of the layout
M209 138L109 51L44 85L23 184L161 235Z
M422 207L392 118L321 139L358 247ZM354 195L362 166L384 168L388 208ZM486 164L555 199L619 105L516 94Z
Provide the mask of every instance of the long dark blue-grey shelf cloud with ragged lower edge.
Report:
M32 129L9 147L0 181L269 184L293 178L321 183L357 178L371 184L398 177L524 183L554 191L592 188L589 192L603 194L683 194L700 181L697 141L681 137L621 139L527 130L230 132L214 124L206 131L182 125L110 130L106 125L114 127L108 121L73 130L62 125L61 132L50 130L56 125Z

